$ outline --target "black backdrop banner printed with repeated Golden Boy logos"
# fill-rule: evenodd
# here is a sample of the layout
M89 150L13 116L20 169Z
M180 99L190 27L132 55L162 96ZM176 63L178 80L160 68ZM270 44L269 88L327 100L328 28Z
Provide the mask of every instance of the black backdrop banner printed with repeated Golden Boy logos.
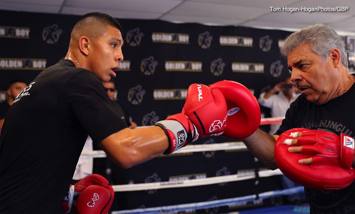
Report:
M21 79L29 83L42 70L66 55L72 27L79 18L73 15L0 11L1 102L6 99L9 81ZM245 85L258 97L261 91L290 75L286 60L280 55L280 47L291 32L159 20L118 21L123 28L125 44L122 47L124 60L114 79L117 100L138 125L153 125L171 114L181 112L187 89L193 83L209 85L221 80L233 80ZM261 111L262 116L269 117L268 109L261 108ZM198 139L196 144L211 141L220 143L229 140L223 137ZM254 171L253 156L247 151L213 152L203 159L201 154L157 158L129 170L116 169L116 174L122 173L122 176L116 178L114 184L141 183L154 173L158 174L161 181L167 181L182 175L213 177L221 169L231 174L238 170ZM176 166L181 161L190 163L189 169L185 169L184 164ZM171 169L171 166L178 169ZM267 184L259 185L262 189L258 192L280 186L278 178L260 180ZM194 187L197 191L185 197L186 191L190 190L178 188L170 190L176 194L174 200L169 200L169 190L166 189L149 193L122 193L117 194L113 208L133 209L140 205L153 207L243 196L253 194L253 188L248 187L253 186L253 182L232 182L222 187L217 184ZM138 196L150 198L140 201L136 199ZM243 206L247 205L239 207Z

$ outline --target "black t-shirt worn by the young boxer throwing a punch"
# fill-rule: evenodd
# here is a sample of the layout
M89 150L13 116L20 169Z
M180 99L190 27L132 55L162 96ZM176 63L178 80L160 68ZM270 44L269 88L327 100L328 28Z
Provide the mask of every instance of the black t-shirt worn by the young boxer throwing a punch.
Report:
M59 213L82 148L127 128L89 70L64 59L16 98L1 131L0 213Z

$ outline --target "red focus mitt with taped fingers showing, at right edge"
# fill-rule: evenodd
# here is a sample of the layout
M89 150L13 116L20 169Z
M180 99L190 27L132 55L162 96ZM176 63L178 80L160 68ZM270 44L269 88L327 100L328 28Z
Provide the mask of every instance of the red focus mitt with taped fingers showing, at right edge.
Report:
M288 151L292 139L302 146L301 153ZM298 163L310 157L310 165ZM353 159L354 139L344 134L295 128L282 133L275 144L275 161L286 177L323 191L343 189L355 180Z

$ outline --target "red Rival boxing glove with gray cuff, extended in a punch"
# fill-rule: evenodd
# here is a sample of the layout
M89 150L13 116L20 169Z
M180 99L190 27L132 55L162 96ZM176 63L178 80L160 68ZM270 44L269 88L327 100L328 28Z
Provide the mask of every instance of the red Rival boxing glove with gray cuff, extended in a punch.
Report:
M155 125L162 127L169 139L169 148L164 154L197 140L198 137L218 136L226 127L227 106L218 89L210 90L206 85L192 84L182 113L174 114Z

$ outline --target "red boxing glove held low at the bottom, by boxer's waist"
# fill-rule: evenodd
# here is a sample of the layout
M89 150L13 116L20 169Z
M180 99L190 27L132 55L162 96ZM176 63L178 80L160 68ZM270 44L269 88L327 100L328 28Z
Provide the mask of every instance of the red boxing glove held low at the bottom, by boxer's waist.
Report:
M115 192L101 175L92 174L69 186L67 196L62 201L63 213L103 213L107 214Z

